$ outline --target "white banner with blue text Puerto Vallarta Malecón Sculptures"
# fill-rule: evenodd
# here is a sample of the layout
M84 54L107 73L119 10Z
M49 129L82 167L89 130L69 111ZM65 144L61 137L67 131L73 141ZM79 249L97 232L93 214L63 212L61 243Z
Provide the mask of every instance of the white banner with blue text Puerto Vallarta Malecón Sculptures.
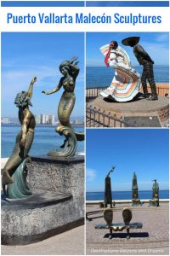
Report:
M169 32L167 7L3 7L2 32Z

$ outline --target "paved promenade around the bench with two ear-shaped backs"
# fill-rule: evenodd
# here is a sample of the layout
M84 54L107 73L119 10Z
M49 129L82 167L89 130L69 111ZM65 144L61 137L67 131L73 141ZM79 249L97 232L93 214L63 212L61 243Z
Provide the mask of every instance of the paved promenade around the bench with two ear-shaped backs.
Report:
M125 206L124 206L125 207ZM118 205L113 213L113 222L122 222L122 208ZM113 232L108 238L108 230L95 230L96 224L105 223L102 213L94 215L92 221L86 222L87 254L159 254L168 255L169 240L169 206L161 203L161 207L130 207L133 211L132 222L142 222L141 230L130 230L131 238L126 239L126 230ZM98 206L87 206L87 212L100 210ZM90 216L90 217L93 217Z

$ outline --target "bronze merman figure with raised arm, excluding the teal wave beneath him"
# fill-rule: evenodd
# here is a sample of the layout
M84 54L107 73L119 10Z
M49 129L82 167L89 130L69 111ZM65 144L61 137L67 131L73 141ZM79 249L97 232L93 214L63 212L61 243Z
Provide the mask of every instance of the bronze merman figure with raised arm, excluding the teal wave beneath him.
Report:
M10 185L14 182L14 172L20 166L20 164L26 160L28 152L31 148L31 144L34 139L34 128L36 126L36 121L34 115L29 109L31 104L31 96L33 90L33 84L37 81L34 77L31 80L29 90L22 91L17 94L14 100L14 104L19 108L19 120L21 125L21 131L16 137L16 142L14 146L13 153L10 155L6 165L3 169L3 192L6 194L6 185ZM26 161L25 161L26 162ZM23 166L25 167L25 166Z

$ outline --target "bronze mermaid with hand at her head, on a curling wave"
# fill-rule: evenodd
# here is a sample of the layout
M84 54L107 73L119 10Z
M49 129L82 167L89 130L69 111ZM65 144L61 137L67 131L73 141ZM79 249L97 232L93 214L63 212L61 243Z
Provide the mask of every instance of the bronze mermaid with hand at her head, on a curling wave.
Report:
M61 62L59 71L63 74L63 77L59 80L59 84L54 90L48 92L42 90L42 93L50 95L57 92L61 87L64 88L58 107L60 126L56 127L55 131L59 132L59 135L65 136L65 142L60 147L62 148L61 150L50 151L48 153L50 156L74 156L77 149L77 141L84 140L84 134L75 132L70 123L70 115L76 101L74 90L79 73L78 61L74 63L76 60L77 57L73 57L70 61Z

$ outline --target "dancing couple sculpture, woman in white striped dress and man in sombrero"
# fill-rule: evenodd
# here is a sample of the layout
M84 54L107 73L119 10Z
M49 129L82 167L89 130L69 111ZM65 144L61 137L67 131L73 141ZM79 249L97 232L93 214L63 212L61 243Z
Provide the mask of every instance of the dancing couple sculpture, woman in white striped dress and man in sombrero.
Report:
M100 93L101 96L116 102L129 102L138 95L140 84L142 83L144 98L151 101L158 99L153 73L154 61L151 60L150 55L138 43L139 37L122 40L122 44L133 47L134 55L139 64L143 65L141 78L140 74L131 66L127 52L116 41L111 41L110 44L105 44L100 48L101 53L105 55L105 65L115 69L115 76L111 85ZM150 84L151 96L148 93L146 80Z

